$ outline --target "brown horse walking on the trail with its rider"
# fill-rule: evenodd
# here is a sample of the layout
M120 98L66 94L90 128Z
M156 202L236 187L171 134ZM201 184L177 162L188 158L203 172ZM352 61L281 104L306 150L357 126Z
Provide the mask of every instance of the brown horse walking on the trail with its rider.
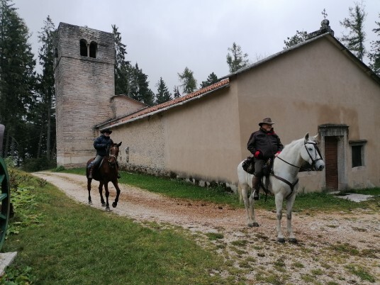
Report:
M99 166L94 167L94 172L92 173L93 178L89 178L89 163L94 160L94 158L91 158L87 162L86 167L86 177L87 177L87 190L89 191L89 205L92 205L91 201L91 181L92 179L95 179L99 181L99 194L101 199L101 206L106 206L106 211L111 211L109 208L108 203L108 182L111 181L113 186L116 188L116 199L112 203L113 208L116 208L118 206L118 196L120 195L120 189L118 187L118 152L119 147L121 146L121 143L114 143L109 147L108 154L101 160ZM106 190L106 202L104 202L103 198L103 185L104 189Z

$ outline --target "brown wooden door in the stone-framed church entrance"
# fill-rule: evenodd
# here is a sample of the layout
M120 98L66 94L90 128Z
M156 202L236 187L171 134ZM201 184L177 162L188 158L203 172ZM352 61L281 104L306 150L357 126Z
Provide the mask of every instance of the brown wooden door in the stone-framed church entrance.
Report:
M326 188L338 190L337 138L325 137Z

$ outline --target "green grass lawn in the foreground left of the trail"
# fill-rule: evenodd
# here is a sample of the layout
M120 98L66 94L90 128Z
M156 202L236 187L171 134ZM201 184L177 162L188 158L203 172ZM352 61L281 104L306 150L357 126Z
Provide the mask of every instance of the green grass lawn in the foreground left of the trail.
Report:
M185 234L76 203L40 180L12 189L18 228L3 250L18 256L0 284L227 284L208 274L222 271L220 257Z

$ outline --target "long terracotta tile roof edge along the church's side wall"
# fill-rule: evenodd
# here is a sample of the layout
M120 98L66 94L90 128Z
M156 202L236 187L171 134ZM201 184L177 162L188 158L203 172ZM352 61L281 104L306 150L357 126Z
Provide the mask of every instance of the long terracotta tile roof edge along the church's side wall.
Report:
M170 101L167 101L167 102L164 102L162 104L158 104L156 106L152 106L152 107L148 107L148 108L143 108L142 110L140 111L137 111L133 114L130 114L129 116L125 116L124 118L122 118L121 120L118 120L117 122L113 122L111 123L110 127L112 125L116 125L118 123L122 123L122 122L127 122L127 121L130 121L132 119L135 119L135 118L138 118L138 117L142 117L144 115L148 115L150 113L157 113L157 111L160 111L160 110L164 110L170 106L174 106L174 105L177 105L177 104L180 104L181 102L184 102L184 101L188 101L190 99L194 99L195 97L199 97L201 96L202 94L206 94L210 91L213 91L213 90L216 90L216 89L219 89L220 87L223 87L223 86L228 86L228 84L230 83L230 79L223 79L221 80L220 82L217 82L213 85L210 85L210 86L207 86L205 88L202 88L202 89L199 89L193 93L190 93L190 94L187 94L185 96L181 96L179 98L176 98L176 99L173 99L173 100L170 100Z

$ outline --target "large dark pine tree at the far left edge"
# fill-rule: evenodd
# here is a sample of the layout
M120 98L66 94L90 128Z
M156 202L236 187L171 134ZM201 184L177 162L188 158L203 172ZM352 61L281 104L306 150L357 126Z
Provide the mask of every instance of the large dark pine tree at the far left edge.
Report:
M35 103L35 60L29 33L11 0L0 0L0 122L6 126L4 157L25 157L26 119ZM11 112L9 111L11 110Z

